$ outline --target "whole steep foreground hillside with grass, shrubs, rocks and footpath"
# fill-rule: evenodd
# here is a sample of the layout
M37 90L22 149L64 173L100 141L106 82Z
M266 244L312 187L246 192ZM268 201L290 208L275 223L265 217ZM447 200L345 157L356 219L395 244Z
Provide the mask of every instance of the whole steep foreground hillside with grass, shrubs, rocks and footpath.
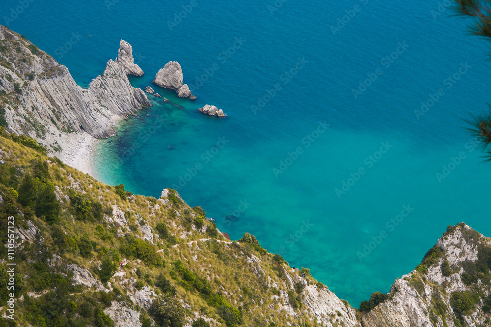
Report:
M0 223L6 230L15 217L20 326L191 326L198 318L211 326L360 326L308 269L301 277L252 235L228 240L174 190L134 195L1 133ZM10 267L3 262L0 283Z

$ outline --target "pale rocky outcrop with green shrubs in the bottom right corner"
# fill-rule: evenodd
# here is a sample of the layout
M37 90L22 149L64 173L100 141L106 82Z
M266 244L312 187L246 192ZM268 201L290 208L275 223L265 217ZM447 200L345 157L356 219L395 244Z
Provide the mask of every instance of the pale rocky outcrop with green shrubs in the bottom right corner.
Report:
M491 326L490 238L464 223L447 229L422 263L363 313L364 327Z

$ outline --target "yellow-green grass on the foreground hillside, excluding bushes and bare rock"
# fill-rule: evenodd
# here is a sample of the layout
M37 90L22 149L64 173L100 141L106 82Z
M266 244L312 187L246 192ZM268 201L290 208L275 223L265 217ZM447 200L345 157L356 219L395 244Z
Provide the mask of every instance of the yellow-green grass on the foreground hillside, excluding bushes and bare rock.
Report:
M34 176L39 170L39 167L36 168L39 161L45 162L53 159L5 137L0 137L0 149L0 158L4 161L3 165L0 165L0 195L4 202L3 207L0 205L0 221L4 225L7 214L5 205L8 204L8 193L12 193L7 188L12 187L19 191L26 173ZM97 317L97 308L107 307L111 299L133 306L126 294L135 291L135 284L125 284L125 280L133 277L144 285L153 288L161 273L176 287L177 298L184 300L191 306L191 309L187 311L188 317L194 317L194 312L199 312L202 316L223 322L218 315L219 305L217 302L210 300L210 296L197 291L192 285L192 280L184 282L185 277L179 274L179 271L177 274L173 273L176 272L176 269L172 263L181 260L183 266L190 269L195 278L205 278L209 282L214 299L223 299L218 300L218 302L226 302L228 303L226 305L239 310L242 326L270 326L271 322L275 322L276 326L285 326L287 321L297 322L301 326L304 326L305 323L307 326L316 326L313 317L303 311L305 306L296 309L299 313L298 317L292 318L285 313L277 312L279 302L274 300L273 295L280 295L280 290L290 291L290 295L298 296L300 299L301 294L298 295L296 291L288 289L288 283L284 282L283 270L287 264L278 264L273 260L273 254L267 253L260 246L247 242L228 244L217 242L217 240L228 240L220 233L216 237L211 237L210 233L205 231L207 228L213 230L207 221L201 230L196 230L192 222L191 212L196 212L197 215L199 210L193 211L187 204L179 201L179 198L177 204L173 205L170 205L172 202L163 205L163 202L157 201L155 198L140 195L132 195L129 200L122 200L116 194L114 187L105 185L91 176L83 175L60 162L50 162L48 167L49 176L46 182L52 182L65 195L69 194L70 189L75 189L78 193L83 193L86 200L90 199L93 203L100 202L103 210L108 213L105 214L105 218L112 215L109 206L117 205L121 208L130 221L131 234L141 234L136 226L136 219L141 217L149 226L153 227L154 234L157 233L156 225L164 223L168 229L169 237L156 239L158 240L156 245L149 246L151 255L156 254L158 259L150 259L145 262L144 260L137 260L138 255L128 254L127 251L121 250L128 245L128 242L124 238L116 236L117 226L107 223L105 218L92 222L76 219L76 211L65 199L63 199L61 213L55 223L48 224L44 217L36 217L35 215L30 217L33 224L40 229L40 233L36 242L27 245L25 243L22 250L16 251L16 261L19 263L17 272L24 276L24 286L17 294L17 296L24 296L24 301L19 301L17 304L16 321L19 325L85 326L95 324L95 326L104 326L101 325L101 319ZM38 183L42 183L42 181L38 180ZM30 216L33 215L32 210L24 208L17 201L15 202L12 205L16 207L16 211L18 210L16 225L26 226L27 222L23 213ZM180 217L174 209L178 210ZM102 231L100 227L98 230L98 225L102 227ZM65 232L66 234L64 234ZM180 237L184 232L187 232L186 239ZM93 251L88 257L82 257L77 246L84 235L90 239L93 245L97 245L97 247L93 247ZM2 237L1 241L5 242L5 237ZM202 240L206 238L211 240ZM197 242L189 245L188 242L193 240ZM177 243L174 244L176 241ZM5 252L4 249L2 251ZM114 277L109 280L114 284L115 289L109 292L111 299L94 289L90 290L86 287L80 287L80 285L78 287L65 285L71 284L66 264L75 263L97 276L100 262L108 256L106 252L109 252L115 260L119 254L129 263L125 269L124 277ZM5 253L1 254L1 257L4 258ZM53 259L55 254L61 260L50 267L48 259ZM248 263L246 258L252 257L252 255L261 258L261 268L266 275L256 275L254 270L257 268L257 264ZM192 259L193 256L194 259ZM136 268L140 268L143 272L141 277L136 275ZM68 275L68 277L63 277L63 274ZM174 275L175 279L171 275ZM268 282L269 278L271 279ZM189 278L188 276L188 279L192 279L192 277ZM308 277L308 280L316 283L311 277ZM272 283L277 283L277 288L267 286ZM55 286L57 286L57 290L63 289L63 287L66 289L63 294L59 295L59 298L57 298L58 294L53 291ZM189 290L187 290L188 287ZM161 290L155 287L155 292L159 294ZM28 294L31 296L29 297ZM34 294L36 298L33 296ZM41 296L39 297L39 295ZM4 295L2 294L2 296ZM86 303L90 303L90 307L95 307L96 310L89 313L85 312L88 307ZM5 309L3 307L2 314ZM142 308L140 310L143 311ZM83 315L87 317L83 317Z

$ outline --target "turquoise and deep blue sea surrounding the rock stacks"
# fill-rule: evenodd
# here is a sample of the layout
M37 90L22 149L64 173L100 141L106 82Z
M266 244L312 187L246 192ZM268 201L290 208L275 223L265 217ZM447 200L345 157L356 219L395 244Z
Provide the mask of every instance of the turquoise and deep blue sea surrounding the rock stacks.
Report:
M447 225L491 236L491 167L464 122L488 111L490 49L445 5L3 0L0 17L81 86L120 39L145 72L136 87L178 61L198 99L152 85L178 106L150 97L100 142L96 176L156 197L176 188L233 239L254 234L358 306Z

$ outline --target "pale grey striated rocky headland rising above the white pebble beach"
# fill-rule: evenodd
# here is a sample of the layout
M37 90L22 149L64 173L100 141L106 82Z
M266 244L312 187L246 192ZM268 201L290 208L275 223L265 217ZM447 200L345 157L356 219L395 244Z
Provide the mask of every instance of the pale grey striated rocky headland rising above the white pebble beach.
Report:
M150 105L114 61L83 89L65 66L1 25L0 101L8 129L33 137L49 152L66 148L74 132L96 138L114 135L113 120Z

